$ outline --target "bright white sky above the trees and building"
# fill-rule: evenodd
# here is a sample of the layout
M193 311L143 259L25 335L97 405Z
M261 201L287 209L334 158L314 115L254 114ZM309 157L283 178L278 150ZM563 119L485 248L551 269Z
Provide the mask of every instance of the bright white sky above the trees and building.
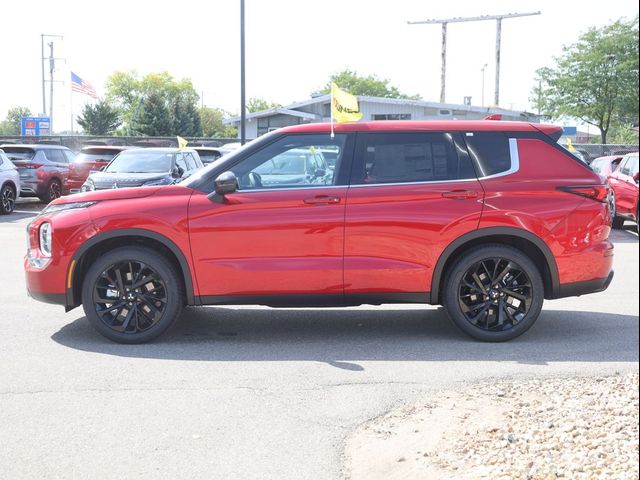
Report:
M591 26L637 15L631 0L245 0L246 94L283 105L308 99L345 68L375 74L438 101L440 25L407 21L541 11L502 22L500 106L531 110L536 69ZM71 94L72 70L104 94L117 70L190 78L202 103L240 110L240 0L8 0L0 28L0 119L42 111L41 34L61 58L54 73L54 130L68 130L89 97ZM496 22L448 26L446 101L493 103ZM45 55L48 47L45 45ZM46 66L48 79L48 64ZM47 83L47 108L48 91ZM77 126L76 126L77 127Z

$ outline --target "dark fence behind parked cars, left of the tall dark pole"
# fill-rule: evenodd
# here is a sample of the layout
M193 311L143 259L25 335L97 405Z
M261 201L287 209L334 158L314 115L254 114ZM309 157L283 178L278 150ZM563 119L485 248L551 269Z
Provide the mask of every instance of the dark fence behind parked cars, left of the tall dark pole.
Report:
M219 147L225 143L237 142L237 138L187 137L190 146ZM131 145L136 147L177 147L176 137L108 137L89 135L51 135L46 137L23 137L20 135L0 136L4 143L44 143L63 145L74 152L89 145Z

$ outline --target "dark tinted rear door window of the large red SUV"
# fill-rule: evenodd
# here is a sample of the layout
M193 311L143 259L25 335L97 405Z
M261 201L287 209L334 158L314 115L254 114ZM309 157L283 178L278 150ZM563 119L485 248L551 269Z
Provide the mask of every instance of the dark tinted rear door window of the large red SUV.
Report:
M375 133L358 136L352 184L437 182L474 178L449 133Z

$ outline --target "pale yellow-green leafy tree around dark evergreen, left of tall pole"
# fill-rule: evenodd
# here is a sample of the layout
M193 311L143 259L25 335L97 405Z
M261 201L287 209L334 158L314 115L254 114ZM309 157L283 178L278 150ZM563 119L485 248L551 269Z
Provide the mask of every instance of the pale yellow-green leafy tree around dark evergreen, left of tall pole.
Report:
M122 109L125 131L129 133L144 123L139 118L143 104L153 97L153 102L164 104L169 122L175 127L170 135L180 135L180 132L187 136L199 134L199 96L190 79L175 80L168 72L149 73L141 77L135 70L118 71L107 79L106 92L107 101Z

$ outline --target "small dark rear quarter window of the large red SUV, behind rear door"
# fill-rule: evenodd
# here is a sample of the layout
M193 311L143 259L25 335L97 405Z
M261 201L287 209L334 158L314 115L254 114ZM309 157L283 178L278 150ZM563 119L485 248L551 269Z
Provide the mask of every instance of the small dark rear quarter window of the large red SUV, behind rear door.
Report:
M488 177L511 169L509 139L503 132L467 132L464 137L478 176Z

